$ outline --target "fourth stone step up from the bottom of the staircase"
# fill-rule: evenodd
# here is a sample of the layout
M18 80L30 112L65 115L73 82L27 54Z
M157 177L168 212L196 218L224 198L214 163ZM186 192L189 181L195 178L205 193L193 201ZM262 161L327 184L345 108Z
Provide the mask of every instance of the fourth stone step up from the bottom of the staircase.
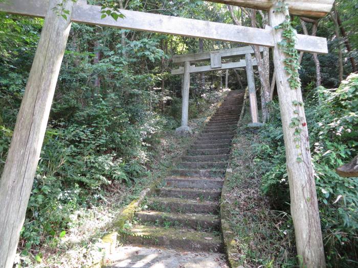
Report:
M197 188L167 188L155 189L155 193L160 197L186 198L200 200L218 200L221 195L220 189L197 189Z

